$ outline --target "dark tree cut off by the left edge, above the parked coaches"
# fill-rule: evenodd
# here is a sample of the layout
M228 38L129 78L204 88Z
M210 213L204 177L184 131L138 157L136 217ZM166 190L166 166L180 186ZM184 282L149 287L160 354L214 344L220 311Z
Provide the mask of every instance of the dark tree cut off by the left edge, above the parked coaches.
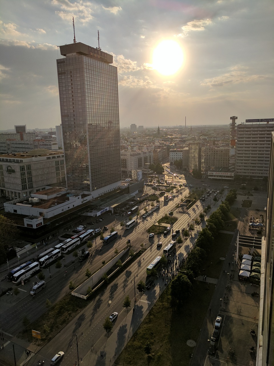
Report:
M15 222L0 215L0 264L7 262L9 244L18 233Z

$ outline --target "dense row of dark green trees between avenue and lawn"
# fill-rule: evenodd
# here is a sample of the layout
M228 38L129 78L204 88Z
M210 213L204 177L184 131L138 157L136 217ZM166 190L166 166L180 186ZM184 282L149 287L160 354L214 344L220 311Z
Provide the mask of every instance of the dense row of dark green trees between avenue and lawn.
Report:
M203 258L210 252L210 246L224 227L224 221L229 219L230 204L234 203L236 198L236 190L230 190L225 200L206 221L206 227L199 232L196 246L189 253L184 270L180 270L171 281L172 305L181 305L191 295L194 279L200 274Z

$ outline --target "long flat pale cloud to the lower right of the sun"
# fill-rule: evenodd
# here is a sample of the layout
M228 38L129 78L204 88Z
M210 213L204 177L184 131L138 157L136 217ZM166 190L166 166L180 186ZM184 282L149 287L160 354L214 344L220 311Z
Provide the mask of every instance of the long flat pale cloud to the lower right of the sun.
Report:
M239 84L255 82L258 80L266 79L264 75L248 75L245 71L231 71L227 74L216 76L212 79L204 79L200 84L202 86L225 86L228 84Z

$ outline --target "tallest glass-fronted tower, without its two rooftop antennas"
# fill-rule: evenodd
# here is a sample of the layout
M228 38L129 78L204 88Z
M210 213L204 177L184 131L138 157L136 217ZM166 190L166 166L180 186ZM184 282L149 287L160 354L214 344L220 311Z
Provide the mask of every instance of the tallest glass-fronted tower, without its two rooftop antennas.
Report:
M81 42L60 46L61 122L70 190L98 197L119 187L117 67L113 56Z

